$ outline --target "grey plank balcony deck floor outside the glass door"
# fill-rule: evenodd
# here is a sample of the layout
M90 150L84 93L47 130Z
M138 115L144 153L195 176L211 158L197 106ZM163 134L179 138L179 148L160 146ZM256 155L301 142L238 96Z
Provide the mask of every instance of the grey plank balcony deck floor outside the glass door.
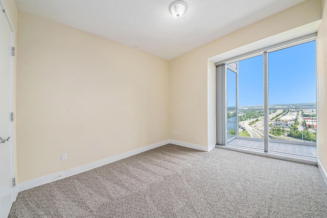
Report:
M235 139L228 143L228 145L241 146L252 149L264 149L263 141L255 141L250 139ZM269 151L285 153L285 154L293 154L300 155L306 157L316 157L317 149L316 146L309 145L296 145L296 144L288 144L284 142L269 142L268 145Z

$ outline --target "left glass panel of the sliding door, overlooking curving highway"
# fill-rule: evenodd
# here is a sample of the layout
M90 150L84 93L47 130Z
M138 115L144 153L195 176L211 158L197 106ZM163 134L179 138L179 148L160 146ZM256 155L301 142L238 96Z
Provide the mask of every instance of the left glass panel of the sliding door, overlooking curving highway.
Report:
M227 128L228 137L236 130L238 140L231 144L253 149L264 148L264 111L263 111L263 55L248 58L239 62L228 64L234 66L237 74L227 69L227 99L228 99L228 77L235 81L238 89L236 93L229 91L229 96L237 96L227 101L227 117L229 117ZM230 69L233 69L230 67ZM232 77L232 79L231 79ZM235 84L230 84L230 87ZM238 101L234 103L235 101ZM233 104L232 104L233 103ZM237 110L233 107L237 105ZM231 123L235 120L235 124ZM235 130L234 130L235 129Z

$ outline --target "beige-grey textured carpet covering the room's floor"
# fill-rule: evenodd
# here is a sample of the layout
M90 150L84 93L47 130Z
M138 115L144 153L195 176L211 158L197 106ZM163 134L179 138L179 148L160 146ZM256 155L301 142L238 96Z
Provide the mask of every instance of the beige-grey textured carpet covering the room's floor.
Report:
M18 195L9 217L327 217L316 166L166 145Z

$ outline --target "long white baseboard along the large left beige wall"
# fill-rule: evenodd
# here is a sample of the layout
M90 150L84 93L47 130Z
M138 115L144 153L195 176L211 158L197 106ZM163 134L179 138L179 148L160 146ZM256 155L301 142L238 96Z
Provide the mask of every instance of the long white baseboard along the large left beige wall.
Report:
M114 155L112 157L108 157L108 158L105 158L105 159L102 159L102 160L91 162L91 163L88 163L86 165L82 165L82 166L79 166L79 167L75 167L75 168L72 168L72 169L64 170L64 171L61 171L61 172L57 172L57 173L54 173L54 174L42 176L42 177L39 177L39 178L36 178L36 179L32 179L32 180L29 180L29 181L26 181L26 182L19 183L19 189L17 190L17 194L18 194L18 191L22 192L24 190L27 190L27 189L30 189L30 188L33 188L33 187L36 187L36 186L39 186L39 185L43 185L43 184L46 184L46 183L49 183L49 182L57 181L59 179L63 179L63 178L69 177L69 176L79 174L79 173L83 173L85 171L92 170L92 169L95 169L97 167L101 167L103 165L106 165L108 163L111 163L111 162L114 162L114 161L117 161L117 160L120 160L120 159L124 159L126 157L130 157L130 156L133 156L135 154L139 154L139 153L142 153L142 152L145 152L145 151L148 151L148 150L151 150L151 149L163 146L163 145L167 145L169 143L170 143L170 140L158 142L158 143L148 145L148 146L145 146L145 147L142 147L142 148L138 148L138 149L135 149L135 150L132 150L132 151L127 151L127 152L122 153L122 154ZM203 146L201 146L201 147L203 147ZM58 175L60 175L60 177Z

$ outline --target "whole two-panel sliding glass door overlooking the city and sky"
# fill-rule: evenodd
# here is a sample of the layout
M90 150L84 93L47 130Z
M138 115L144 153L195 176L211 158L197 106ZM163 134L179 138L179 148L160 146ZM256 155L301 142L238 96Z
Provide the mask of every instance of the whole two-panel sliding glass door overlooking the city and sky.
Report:
M220 68L226 79L226 142L316 157L315 41L276 46L236 60Z

